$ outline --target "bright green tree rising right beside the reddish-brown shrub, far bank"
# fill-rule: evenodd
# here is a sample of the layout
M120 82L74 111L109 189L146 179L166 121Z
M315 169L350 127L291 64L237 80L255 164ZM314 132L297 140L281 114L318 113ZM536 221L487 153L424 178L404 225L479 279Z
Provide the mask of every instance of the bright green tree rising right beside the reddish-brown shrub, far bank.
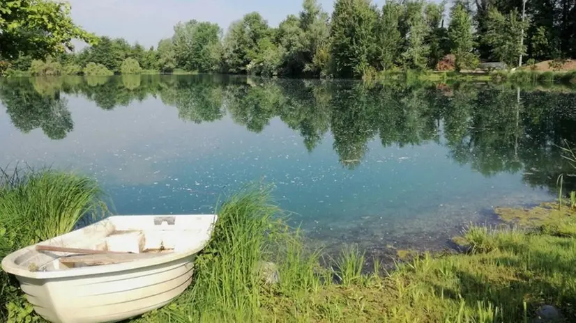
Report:
M457 4L452 8L448 38L450 39L450 52L456 56L456 70L473 68L477 58L473 54L472 18L462 4Z

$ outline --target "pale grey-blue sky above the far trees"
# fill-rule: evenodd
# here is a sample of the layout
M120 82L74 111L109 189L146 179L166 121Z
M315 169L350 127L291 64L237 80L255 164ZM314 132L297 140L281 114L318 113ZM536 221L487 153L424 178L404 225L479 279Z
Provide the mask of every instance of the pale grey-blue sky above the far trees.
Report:
M246 13L259 12L270 26L298 14L301 0L68 0L74 21L99 36L124 38L150 47L172 36L177 22L216 22L224 31ZM332 12L334 0L319 0ZM384 0L376 0L382 6ZM83 47L77 43L77 49Z

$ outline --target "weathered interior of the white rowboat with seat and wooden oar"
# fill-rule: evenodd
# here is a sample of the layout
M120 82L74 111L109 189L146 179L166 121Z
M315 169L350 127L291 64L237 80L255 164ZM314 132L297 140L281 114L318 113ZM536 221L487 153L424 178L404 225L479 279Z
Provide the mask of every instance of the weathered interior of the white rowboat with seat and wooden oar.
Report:
M29 246L15 265L59 271L183 253L206 243L213 221L214 216L112 216Z

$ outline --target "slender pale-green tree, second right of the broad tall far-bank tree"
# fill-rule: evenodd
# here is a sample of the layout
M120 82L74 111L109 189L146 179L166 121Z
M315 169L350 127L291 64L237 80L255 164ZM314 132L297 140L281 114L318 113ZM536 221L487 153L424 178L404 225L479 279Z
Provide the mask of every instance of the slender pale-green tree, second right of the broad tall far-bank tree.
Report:
M423 0L407 0L406 12L400 26L404 36L404 52L402 60L404 68L423 70L427 65L427 56L430 53L430 45L425 43L425 37L429 28L423 14Z

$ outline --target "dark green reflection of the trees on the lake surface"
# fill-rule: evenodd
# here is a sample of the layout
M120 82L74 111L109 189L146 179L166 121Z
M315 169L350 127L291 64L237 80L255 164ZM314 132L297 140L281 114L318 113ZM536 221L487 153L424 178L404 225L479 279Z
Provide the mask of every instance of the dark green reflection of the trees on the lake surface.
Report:
M328 134L342 166L359 166L374 139L383 147L437 143L485 176L524 173L533 186L556 188L570 165L563 141L576 142L575 93L506 86L262 80L227 75L15 79L0 82L0 101L22 132L41 128L52 139L73 131L66 94L111 110L154 96L179 118L213 122L227 114L250 132L280 118L312 152ZM520 97L518 96L520 94ZM576 182L565 178L565 187Z

